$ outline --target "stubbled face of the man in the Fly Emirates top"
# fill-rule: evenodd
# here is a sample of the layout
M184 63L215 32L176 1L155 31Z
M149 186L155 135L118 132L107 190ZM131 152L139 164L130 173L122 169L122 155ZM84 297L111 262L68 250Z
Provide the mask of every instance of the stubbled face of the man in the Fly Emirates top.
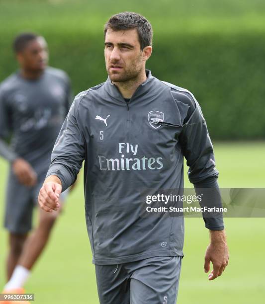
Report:
M113 82L125 82L137 78L145 69L143 53L136 29L107 30L105 64Z

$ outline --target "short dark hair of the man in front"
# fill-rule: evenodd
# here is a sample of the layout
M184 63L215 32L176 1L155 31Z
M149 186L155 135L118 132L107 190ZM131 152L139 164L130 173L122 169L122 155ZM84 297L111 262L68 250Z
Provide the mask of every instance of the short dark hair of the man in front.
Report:
M104 26L104 38L108 29L114 31L136 28L139 36L141 50L152 45L153 30L151 23L142 15L124 11L109 18Z

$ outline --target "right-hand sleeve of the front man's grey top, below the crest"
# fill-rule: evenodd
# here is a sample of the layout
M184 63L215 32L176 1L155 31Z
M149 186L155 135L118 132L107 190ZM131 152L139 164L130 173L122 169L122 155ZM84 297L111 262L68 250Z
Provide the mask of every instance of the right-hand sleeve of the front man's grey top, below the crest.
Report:
M194 100L195 109L183 125L179 141L183 155L187 160L188 178L194 184L195 191L198 188L205 192L202 204L211 207L222 207L217 178L219 172L215 168L213 146L209 137L205 119L203 118L199 104ZM212 188L216 193L214 202L210 202L206 188ZM203 190L204 189L204 190ZM211 197L212 198L212 197ZM203 216L205 227L211 230L224 229L222 215L216 217Z

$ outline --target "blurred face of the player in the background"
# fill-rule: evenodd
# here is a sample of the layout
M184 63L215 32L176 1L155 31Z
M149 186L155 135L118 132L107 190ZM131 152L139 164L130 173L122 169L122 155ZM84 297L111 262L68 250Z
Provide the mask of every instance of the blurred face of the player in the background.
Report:
M26 70L43 71L48 63L47 43L43 37L29 41L24 49L17 53L20 66Z

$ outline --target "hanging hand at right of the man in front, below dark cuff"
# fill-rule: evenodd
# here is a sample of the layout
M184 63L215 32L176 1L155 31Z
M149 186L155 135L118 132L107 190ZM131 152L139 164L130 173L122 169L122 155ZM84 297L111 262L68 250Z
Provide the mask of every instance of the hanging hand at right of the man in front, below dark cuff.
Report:
M210 230L210 236L211 242L205 253L204 271L209 272L210 262L212 262L213 270L208 275L208 279L214 280L221 276L228 265L229 253L225 230Z

